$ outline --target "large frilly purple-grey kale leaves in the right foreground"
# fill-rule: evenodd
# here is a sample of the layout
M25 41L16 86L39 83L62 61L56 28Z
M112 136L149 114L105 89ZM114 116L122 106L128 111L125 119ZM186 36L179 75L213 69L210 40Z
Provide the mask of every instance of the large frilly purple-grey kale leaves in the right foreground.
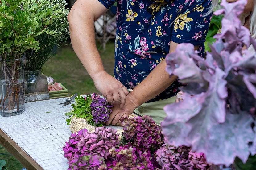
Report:
M245 4L221 2L221 34L206 59L186 43L166 57L167 72L188 85L181 102L165 106L163 134L168 144L191 146L215 165L229 166L235 157L245 163L256 153L256 57L243 49L256 42L237 17ZM190 155L203 166L203 155Z

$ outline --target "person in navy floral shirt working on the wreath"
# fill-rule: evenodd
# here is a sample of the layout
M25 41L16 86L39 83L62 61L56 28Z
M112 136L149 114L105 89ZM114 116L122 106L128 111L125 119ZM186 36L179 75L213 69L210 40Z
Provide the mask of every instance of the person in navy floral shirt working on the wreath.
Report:
M181 86L165 71L164 59L180 43L192 43L204 56L211 0L117 0L114 78L102 66L93 21L115 2L76 1L68 16L73 49L96 88L114 102L107 125L134 110L160 124L163 106L175 102Z

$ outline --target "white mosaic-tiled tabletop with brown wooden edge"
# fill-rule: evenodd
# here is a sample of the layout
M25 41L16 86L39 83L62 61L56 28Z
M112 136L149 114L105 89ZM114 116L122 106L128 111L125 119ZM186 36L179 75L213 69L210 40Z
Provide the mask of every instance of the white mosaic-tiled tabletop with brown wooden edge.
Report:
M71 134L69 126L65 123L65 119L68 118L65 112L69 112L72 106L57 105L64 101L65 98L30 102L26 103L23 114L12 117L0 116L0 132L2 130L5 133L0 135L0 142L5 141L3 136L9 137L7 143L13 143L9 150L15 150L12 154L28 170L68 169L62 147ZM5 146L5 143L3 145ZM9 145L6 144L5 147L8 150Z

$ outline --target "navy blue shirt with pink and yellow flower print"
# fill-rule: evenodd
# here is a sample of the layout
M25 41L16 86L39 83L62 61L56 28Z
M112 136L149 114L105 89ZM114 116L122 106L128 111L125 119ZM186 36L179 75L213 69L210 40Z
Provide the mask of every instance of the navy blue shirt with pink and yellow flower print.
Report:
M98 0L106 8L115 0ZM211 0L117 0L114 76L131 89L165 59L170 41L199 46L204 41L211 15L204 16ZM170 87L148 102L176 95L181 84Z

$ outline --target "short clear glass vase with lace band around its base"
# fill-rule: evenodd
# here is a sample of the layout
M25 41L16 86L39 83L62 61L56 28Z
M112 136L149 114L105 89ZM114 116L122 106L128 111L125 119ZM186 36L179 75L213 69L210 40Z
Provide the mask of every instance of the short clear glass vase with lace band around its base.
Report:
M25 101L49 99L48 81L40 71L25 71Z

